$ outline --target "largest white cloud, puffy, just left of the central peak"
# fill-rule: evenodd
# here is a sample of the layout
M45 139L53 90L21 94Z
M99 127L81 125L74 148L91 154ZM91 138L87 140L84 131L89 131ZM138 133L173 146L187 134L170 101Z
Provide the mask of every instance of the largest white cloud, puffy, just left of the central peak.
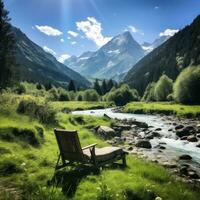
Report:
M86 38L92 40L98 47L103 46L112 39L112 37L103 36L101 23L94 17L87 17L86 21L76 22L76 26L78 30L85 34Z

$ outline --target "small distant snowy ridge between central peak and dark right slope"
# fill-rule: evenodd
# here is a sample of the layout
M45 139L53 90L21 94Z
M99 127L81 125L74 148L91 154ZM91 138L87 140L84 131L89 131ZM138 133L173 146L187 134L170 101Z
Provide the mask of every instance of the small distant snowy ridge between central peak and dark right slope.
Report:
M148 54L151 51L153 51L154 49L156 49L157 47L159 47L161 44L166 42L169 38L170 38L170 36L163 35L163 36L155 39L152 43L144 42L142 44L142 48L145 50L146 54Z

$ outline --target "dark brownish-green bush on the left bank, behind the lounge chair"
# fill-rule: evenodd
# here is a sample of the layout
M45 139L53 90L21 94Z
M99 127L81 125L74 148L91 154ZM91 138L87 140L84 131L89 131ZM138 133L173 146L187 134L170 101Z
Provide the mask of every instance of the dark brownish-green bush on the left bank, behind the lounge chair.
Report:
M56 113L48 105L38 105L32 100L20 101L17 112L38 119L41 123L51 124L56 122Z

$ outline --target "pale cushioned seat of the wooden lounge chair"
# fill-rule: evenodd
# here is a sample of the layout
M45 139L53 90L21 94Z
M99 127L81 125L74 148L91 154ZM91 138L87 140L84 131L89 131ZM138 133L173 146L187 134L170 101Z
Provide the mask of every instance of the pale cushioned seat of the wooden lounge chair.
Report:
M90 149L83 150L83 154L91 159ZM115 158L116 156L122 155L123 150L119 147L103 147L103 148L95 148L96 160L99 162L107 161Z

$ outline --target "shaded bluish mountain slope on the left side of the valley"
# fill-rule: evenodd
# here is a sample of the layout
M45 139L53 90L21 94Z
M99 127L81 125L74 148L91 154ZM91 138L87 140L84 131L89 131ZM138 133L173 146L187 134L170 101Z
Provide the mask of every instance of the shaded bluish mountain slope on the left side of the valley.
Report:
M65 85L71 79L80 87L90 83L77 72L59 63L56 58L32 42L20 29L13 27L16 39L16 61L20 79L26 81Z

